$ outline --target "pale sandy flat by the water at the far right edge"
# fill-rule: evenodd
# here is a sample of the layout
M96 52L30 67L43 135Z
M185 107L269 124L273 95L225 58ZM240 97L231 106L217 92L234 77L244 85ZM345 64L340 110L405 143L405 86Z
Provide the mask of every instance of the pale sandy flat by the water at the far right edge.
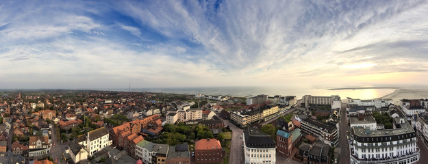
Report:
M428 98L428 89L399 89L380 98L392 98L392 100L425 99Z

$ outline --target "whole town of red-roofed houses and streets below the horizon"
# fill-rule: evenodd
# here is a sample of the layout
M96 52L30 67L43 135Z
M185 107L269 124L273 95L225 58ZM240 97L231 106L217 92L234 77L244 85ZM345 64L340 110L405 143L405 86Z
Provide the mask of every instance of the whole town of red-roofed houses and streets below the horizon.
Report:
M14 90L8 163L421 163L428 99ZM1 163L1 162L0 162Z

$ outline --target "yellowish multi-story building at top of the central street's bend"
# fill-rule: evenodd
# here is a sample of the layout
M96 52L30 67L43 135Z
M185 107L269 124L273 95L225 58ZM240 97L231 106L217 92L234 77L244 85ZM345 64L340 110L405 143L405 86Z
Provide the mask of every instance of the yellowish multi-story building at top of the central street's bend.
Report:
M262 121L263 113L257 109L253 109L251 111L231 111L229 118L235 124L241 127L246 127L249 124Z

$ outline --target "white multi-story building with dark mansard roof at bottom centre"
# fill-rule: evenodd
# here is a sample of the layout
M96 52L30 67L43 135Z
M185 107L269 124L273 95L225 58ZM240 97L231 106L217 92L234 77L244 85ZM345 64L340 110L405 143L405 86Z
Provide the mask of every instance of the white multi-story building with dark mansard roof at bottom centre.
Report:
M244 129L245 163L276 163L275 141L269 135L251 126Z

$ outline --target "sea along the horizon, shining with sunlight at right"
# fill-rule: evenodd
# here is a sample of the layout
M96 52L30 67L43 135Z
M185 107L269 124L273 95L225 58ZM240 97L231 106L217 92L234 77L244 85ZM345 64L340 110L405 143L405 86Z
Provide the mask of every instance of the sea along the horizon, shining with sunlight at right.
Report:
M312 96L339 95L342 99L350 98L379 98L394 92L395 89L355 89L355 90L327 90L327 88L298 88L298 87L150 87L131 88L134 92L164 92L173 94L205 94L205 95L227 95L227 96L255 96L267 94L269 96ZM117 90L128 91L128 90Z

